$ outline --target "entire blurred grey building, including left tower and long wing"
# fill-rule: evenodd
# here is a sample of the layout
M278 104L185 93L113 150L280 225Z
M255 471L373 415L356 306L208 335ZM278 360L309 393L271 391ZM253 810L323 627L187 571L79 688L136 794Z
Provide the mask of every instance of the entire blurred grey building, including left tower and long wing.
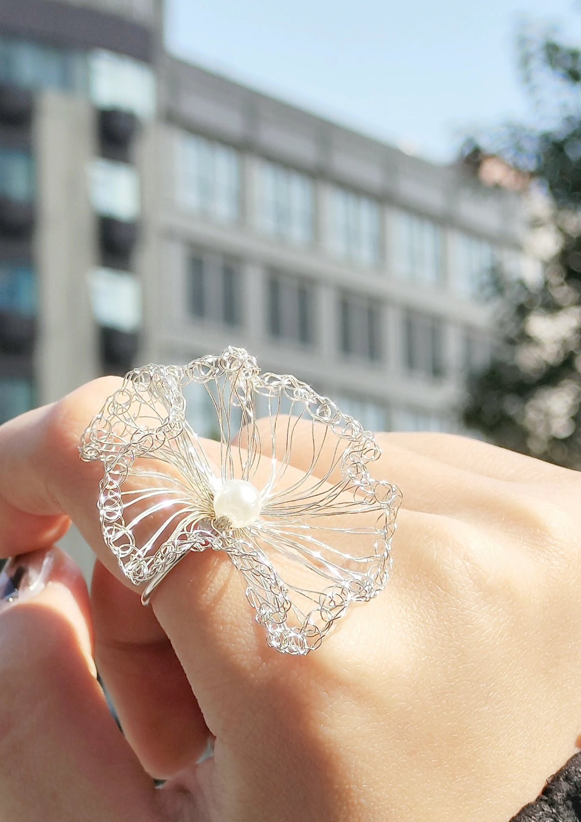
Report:
M240 344L371 429L457 428L520 196L173 58L163 16L2 0L0 422Z

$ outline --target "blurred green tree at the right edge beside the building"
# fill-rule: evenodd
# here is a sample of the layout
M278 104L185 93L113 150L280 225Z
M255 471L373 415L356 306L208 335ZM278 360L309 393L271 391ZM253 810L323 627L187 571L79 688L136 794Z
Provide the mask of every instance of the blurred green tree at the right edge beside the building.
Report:
M543 212L532 230L554 252L536 282L496 277L499 342L468 379L463 420L498 445L581 469L581 51L544 33L523 37L520 53L541 125L489 139L530 175ZM468 161L477 152L468 146Z

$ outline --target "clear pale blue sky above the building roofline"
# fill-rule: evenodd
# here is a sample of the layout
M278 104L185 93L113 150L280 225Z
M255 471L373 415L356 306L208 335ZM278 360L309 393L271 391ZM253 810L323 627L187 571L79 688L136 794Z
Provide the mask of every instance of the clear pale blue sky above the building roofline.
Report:
M581 44L574 0L166 3L179 57L440 161L471 130L527 116L519 21Z

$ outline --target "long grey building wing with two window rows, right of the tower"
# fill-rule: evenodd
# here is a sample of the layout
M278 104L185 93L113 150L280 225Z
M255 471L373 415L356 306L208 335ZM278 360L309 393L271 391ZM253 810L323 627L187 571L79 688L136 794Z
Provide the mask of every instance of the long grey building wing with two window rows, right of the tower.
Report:
M519 196L165 56L148 358L224 340L371 429L454 430Z

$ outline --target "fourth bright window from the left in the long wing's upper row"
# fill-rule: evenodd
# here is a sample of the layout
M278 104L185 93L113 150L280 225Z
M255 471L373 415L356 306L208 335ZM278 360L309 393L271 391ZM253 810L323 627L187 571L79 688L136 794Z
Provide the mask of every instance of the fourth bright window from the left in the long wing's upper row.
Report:
M430 219L399 211L394 220L394 265L397 275L437 285L444 279L442 231Z

